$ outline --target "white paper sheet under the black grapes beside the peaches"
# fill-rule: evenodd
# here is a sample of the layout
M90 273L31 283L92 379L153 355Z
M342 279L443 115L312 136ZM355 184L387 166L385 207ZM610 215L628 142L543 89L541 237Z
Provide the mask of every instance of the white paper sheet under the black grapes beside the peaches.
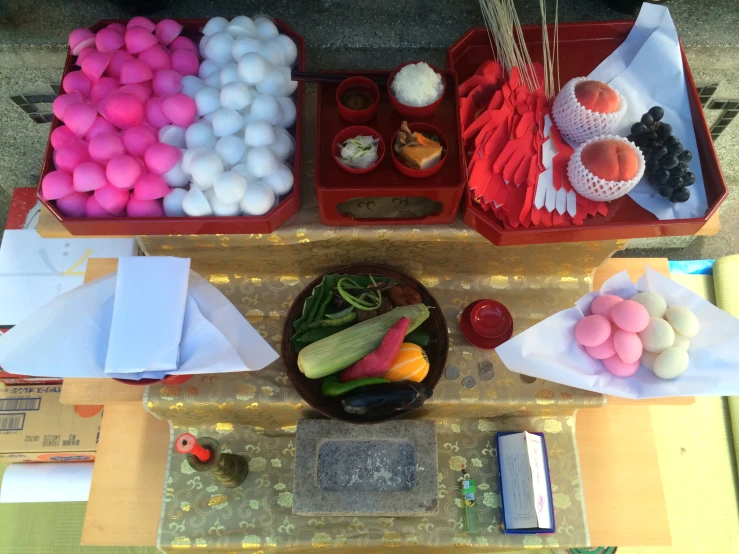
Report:
M626 136L631 126L652 106L661 106L663 121L672 125L686 150L693 153L690 170L695 184L690 199L673 204L657 194L644 177L629 196L659 219L702 217L708 209L703 171L690 113L680 42L670 11L664 6L642 4L639 17L626 40L588 76L618 90L628 109L616 133Z

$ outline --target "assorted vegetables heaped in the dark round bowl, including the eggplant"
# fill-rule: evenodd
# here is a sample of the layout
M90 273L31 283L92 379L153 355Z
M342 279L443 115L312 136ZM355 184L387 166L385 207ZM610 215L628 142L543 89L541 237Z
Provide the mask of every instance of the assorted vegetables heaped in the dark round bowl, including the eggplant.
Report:
M381 275L326 275L295 320L298 368L323 379L321 392L341 397L347 414L386 417L431 396L420 328L429 309L413 287Z

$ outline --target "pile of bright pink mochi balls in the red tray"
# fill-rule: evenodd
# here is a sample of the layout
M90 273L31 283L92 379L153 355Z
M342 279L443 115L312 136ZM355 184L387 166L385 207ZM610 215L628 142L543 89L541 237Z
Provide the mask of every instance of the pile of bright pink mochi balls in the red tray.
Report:
M69 217L159 217L172 190L164 175L179 148L159 141L169 124L191 125L195 102L182 77L197 75L198 49L183 26L134 17L97 33L69 36L80 70L62 80L53 111L64 125L51 134L55 171L43 179L44 199Z

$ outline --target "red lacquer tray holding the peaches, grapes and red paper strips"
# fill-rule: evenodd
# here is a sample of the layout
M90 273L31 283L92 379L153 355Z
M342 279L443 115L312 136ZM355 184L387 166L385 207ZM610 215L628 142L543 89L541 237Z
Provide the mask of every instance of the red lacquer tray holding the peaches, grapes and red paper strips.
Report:
M594 23L560 23L559 61L560 81L564 85L573 77L588 75L608 57L628 36L633 21L602 21ZM541 62L541 27L522 26L529 54ZM554 34L550 25L549 36ZM681 47L682 50L682 47ZM469 30L447 51L447 64L456 71L460 82L475 73L485 60L492 58L487 30L479 27ZM698 91L695 89L688 60L683 52L685 81L693 116L698 156L703 170L708 210L703 217L693 219L659 220L628 196L609 202L608 215L588 218L584 225L575 227L506 229L493 215L483 211L469 193L465 193L464 221L485 238L499 246L518 244L576 242L588 240L633 239L660 236L681 236L697 233L728 196L728 189L718 157L713 147ZM696 158L692 163L695 163ZM466 188L466 187L465 187Z

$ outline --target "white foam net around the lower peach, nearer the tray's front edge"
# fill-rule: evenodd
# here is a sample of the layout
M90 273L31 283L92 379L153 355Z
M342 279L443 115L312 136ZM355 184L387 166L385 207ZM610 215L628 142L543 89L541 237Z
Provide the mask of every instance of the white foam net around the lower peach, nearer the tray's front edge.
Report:
M593 175L583 165L581 159L582 151L589 144L600 140L617 140L629 145L639 160L639 166L633 179L630 181L606 181L605 179L601 179L600 177ZM644 156L642 155L641 150L634 146L634 144L623 137L616 135L603 135L588 140L575 150L575 153L572 154L572 157L570 157L570 161L567 164L567 177L570 180L572 188L574 188L581 196L595 202L609 202L628 194L644 175L644 167Z

